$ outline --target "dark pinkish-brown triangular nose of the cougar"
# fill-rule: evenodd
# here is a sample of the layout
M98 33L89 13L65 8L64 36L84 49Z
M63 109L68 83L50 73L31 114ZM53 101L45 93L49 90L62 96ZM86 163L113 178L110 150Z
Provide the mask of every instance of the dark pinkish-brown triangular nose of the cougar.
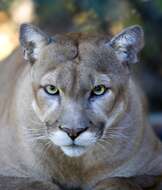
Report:
M68 134L68 136L74 141L81 133L86 131L88 127L86 128L76 128L76 129L70 129L63 126L59 127L62 131Z

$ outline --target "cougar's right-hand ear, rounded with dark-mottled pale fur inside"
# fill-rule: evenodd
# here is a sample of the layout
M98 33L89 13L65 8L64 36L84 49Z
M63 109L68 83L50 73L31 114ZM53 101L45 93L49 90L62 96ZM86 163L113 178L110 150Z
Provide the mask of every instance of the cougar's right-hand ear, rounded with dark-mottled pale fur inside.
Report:
M109 45L115 50L121 62L138 62L137 54L144 46L144 33L140 26L126 28L114 36Z

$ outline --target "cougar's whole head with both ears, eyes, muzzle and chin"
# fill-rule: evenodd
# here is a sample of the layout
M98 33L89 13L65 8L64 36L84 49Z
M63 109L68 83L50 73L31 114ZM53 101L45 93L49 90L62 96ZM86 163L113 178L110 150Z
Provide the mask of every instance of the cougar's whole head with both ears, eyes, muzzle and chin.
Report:
M53 146L76 157L111 138L109 130L127 107L126 63L134 62L141 36L135 26L113 39L87 34L50 39L36 27L22 25L24 57L31 63L32 109Z

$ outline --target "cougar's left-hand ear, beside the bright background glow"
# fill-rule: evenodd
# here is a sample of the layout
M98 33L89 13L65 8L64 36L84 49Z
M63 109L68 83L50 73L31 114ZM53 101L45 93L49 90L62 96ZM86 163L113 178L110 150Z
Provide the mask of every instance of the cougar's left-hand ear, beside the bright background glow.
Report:
M50 43L50 39L39 28L31 24L20 26L20 44L23 48L24 58L31 64L38 59L41 49Z

